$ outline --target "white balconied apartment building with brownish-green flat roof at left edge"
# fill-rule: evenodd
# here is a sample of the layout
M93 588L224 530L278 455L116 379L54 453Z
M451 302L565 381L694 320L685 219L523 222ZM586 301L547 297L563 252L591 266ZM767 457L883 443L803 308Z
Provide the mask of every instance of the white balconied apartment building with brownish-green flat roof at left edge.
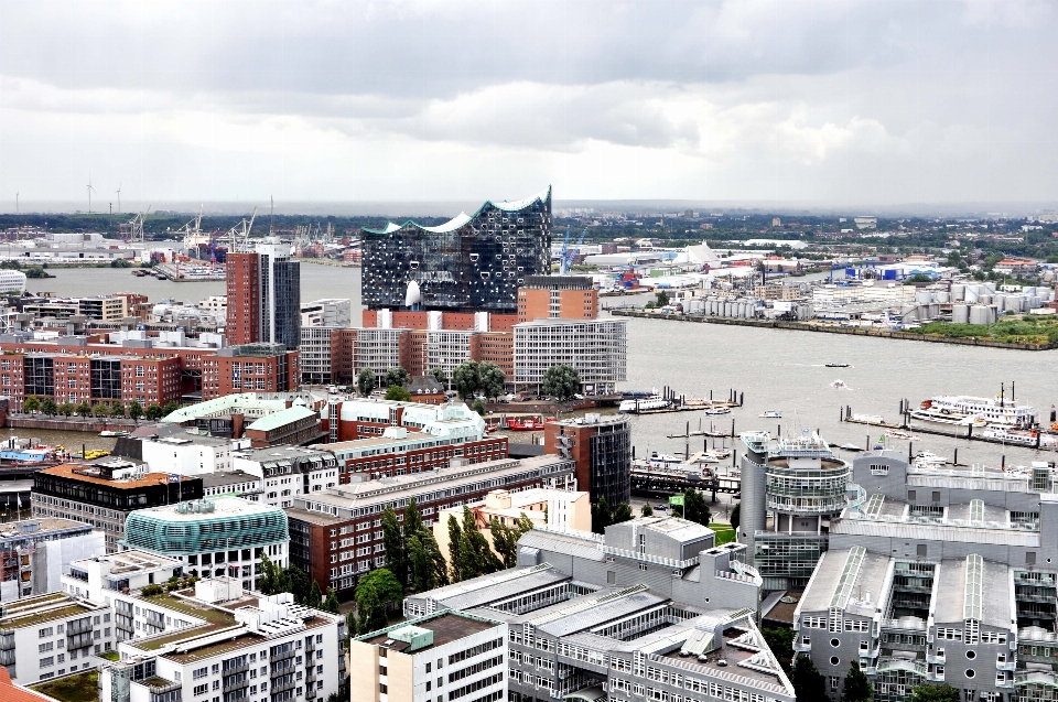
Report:
M97 668L114 648L110 607L62 592L6 603L0 666L20 685Z

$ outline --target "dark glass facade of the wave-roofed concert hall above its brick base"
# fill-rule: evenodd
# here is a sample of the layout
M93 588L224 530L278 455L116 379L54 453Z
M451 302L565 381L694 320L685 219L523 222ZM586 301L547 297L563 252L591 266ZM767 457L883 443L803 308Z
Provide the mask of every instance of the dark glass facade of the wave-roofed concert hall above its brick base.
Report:
M361 294L369 310L514 313L526 278L551 272L551 190L517 203L485 203L438 227L391 223L363 236Z

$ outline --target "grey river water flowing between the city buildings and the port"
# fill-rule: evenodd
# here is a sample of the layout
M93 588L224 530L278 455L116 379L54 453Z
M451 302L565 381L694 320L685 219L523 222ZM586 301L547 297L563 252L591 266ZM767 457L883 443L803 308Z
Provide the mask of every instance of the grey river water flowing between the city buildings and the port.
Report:
M163 298L195 302L208 295L224 294L224 282L161 281L134 278L123 269L62 269L56 278L30 281L31 290L48 290L62 295L106 294L134 290L150 300ZM360 269L305 263L301 267L301 299L350 298L359 309ZM354 312L354 324L359 313ZM1005 382L1007 392L1013 381L1019 401L1033 404L1046 419L1052 403L1058 402L1058 352L1016 352L998 348L975 348L947 344L927 344L862 336L762 330L719 324L694 324L658 320L628 320L627 388L649 390L672 387L688 397L726 399L730 389L744 393L745 406L731 414L705 418L701 412L651 414L633 418L633 442L637 455L649 451L683 451L684 440L666 439L682 433L687 422L698 429L709 426L735 431L767 429L781 424L784 435L802 429L819 429L833 443L864 445L867 438L878 440L881 429L841 423L842 407L862 414L881 414L898 420L900 399L913 402L933 395L998 393ZM841 361L849 368L825 368ZM842 380L846 388L832 387ZM765 410L780 410L781 420L760 419ZM19 433L19 432L15 432ZM22 431L23 435L50 434L47 441L79 445L83 434L51 436L53 432ZM62 434L57 432L56 434ZM109 440L104 440L108 441ZM693 438L691 451L702 447L703 439ZM716 440L722 445L724 440ZM712 445L713 440L709 440ZM727 445L731 440L726 440ZM889 441L899 451L908 450L907 441ZM89 449L94 447L89 445ZM100 446L101 447L101 446ZM998 465L1002 457L1011 465L1033 460L1058 460L1058 453L1037 454L1028 449L1000 446L983 442L920 435L915 452L931 451L953 456L959 449L960 463ZM849 456L846 456L849 457Z

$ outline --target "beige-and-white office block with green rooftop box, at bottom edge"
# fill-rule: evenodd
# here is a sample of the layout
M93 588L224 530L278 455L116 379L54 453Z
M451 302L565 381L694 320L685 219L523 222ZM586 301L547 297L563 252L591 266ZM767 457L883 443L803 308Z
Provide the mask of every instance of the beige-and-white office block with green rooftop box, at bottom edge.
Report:
M352 702L507 700L507 624L428 614L349 641Z

